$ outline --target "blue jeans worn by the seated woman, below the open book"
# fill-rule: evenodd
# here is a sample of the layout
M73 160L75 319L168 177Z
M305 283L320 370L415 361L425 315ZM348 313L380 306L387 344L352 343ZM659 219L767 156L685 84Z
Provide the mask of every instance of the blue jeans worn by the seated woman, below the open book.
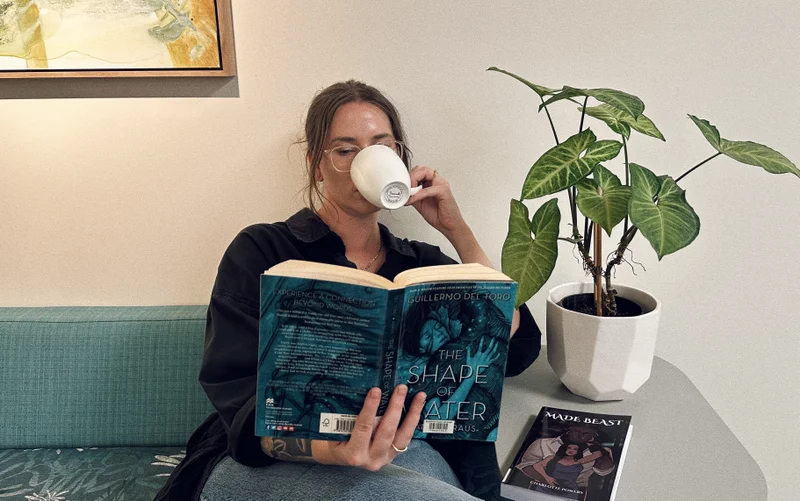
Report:
M453 470L427 442L377 472L351 466L281 461L250 468L226 457L208 478L201 501L475 501L461 490Z

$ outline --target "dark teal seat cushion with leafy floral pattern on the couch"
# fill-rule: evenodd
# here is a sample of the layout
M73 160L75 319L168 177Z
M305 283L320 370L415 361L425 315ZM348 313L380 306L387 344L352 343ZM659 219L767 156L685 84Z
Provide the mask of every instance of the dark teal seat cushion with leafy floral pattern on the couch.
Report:
M0 450L0 501L150 500L180 447Z

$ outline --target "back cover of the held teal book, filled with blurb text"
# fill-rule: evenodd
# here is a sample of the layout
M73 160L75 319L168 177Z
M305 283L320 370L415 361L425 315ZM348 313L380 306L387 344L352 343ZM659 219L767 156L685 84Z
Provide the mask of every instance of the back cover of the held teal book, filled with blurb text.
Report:
M261 277L256 434L343 440L382 367L389 291Z

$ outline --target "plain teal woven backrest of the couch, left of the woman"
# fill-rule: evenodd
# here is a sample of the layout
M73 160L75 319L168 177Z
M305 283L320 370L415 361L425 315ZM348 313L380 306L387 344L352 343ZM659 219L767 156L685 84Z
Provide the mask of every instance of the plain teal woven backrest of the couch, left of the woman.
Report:
M0 448L185 444L213 410L205 312L0 308Z

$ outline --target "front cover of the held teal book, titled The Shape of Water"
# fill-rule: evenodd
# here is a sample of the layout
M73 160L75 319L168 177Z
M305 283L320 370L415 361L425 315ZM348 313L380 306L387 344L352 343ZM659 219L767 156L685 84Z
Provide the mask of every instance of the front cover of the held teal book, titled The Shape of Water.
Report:
M427 395L415 438L494 441L517 284L405 289L396 384Z

